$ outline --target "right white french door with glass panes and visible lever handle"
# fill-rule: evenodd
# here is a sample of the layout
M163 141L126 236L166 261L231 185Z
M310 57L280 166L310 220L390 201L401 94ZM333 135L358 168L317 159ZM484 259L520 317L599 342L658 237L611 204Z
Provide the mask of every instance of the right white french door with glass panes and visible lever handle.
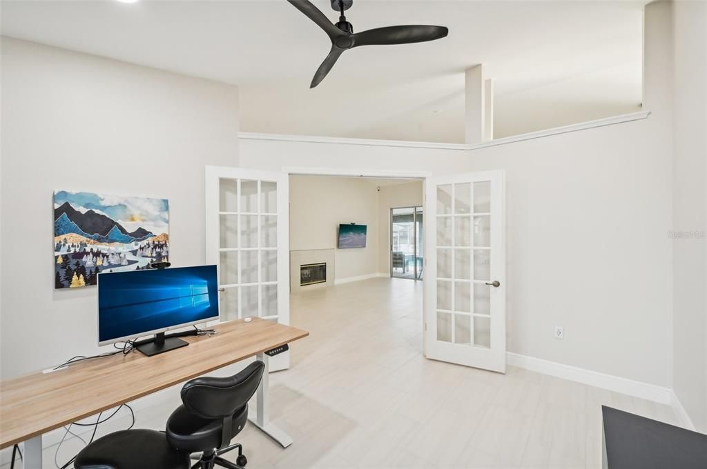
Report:
M426 356L506 372L502 171L426 182Z

